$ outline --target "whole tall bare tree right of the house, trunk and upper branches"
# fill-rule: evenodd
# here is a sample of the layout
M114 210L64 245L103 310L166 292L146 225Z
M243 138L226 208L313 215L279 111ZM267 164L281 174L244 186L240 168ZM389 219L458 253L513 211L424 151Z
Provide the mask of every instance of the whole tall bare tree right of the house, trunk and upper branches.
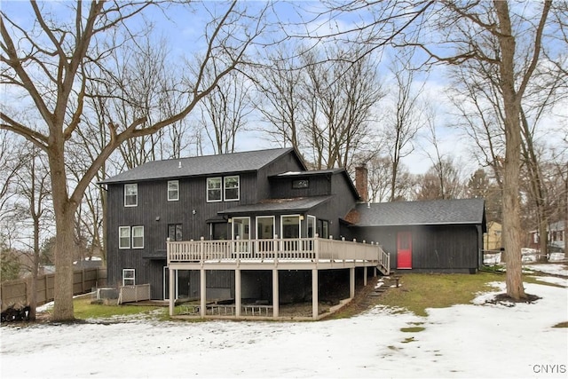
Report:
M514 299L525 298L521 272L521 224L518 200L521 163L521 102L533 79L543 46L543 32L548 23L551 1L533 8L534 17L526 20L509 7L509 2L458 4L444 1L437 12L432 13L430 28L438 33L435 41L426 37L417 41L404 41L419 47L430 59L426 64L444 63L461 65L467 61L485 62L496 67L498 73L499 99L502 104L505 135L503 161L503 241L507 251L507 295ZM517 17L520 16L520 17ZM513 23L512 18L519 21ZM432 35L430 35L432 36ZM522 51L527 65L516 65L517 40L531 41ZM422 41L420 41L422 39ZM495 41L496 43L485 43ZM433 48L434 44L436 49ZM487 46L498 48L492 49ZM457 53L446 54L446 47Z

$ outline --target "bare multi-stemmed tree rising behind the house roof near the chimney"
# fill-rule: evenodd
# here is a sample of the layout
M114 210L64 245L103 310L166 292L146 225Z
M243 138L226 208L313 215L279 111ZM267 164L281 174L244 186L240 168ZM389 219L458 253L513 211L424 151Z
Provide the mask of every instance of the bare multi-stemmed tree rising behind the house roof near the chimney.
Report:
M375 106L384 96L376 62L369 56L353 64L346 58L349 54L336 49L326 52L327 60L319 58L318 51L303 56L303 131L312 146L312 153L305 155L312 157L318 170L349 168L367 144L375 146L370 126Z

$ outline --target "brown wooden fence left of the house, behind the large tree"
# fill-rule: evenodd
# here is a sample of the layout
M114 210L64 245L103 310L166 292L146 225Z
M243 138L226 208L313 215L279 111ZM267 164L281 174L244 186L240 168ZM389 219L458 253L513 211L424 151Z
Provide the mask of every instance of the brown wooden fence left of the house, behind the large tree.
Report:
M12 304L29 304L31 277L20 280L6 280L0 283L0 300L2 311ZM73 274L73 294L80 295L91 292L92 288L106 285L106 268L86 268ZM37 305L53 300L55 274L40 275L36 283Z

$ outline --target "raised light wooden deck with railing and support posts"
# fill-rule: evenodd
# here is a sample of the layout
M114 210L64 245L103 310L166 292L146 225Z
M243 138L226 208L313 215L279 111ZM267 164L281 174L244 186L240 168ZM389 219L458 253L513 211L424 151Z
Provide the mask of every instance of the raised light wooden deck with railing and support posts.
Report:
M336 241L319 237L267 240L229 241L168 241L168 268L170 270L170 294L175 293L177 270L200 271L200 304L188 307L187 312L206 318L215 316L247 319L261 314L266 318L280 319L279 274L286 270L312 272L312 320L319 320L320 270L349 270L349 301L355 296L355 269L364 268L364 285L367 285L367 268L390 272L390 256L380 245L363 241ZM235 303L231 306L207 304L207 275L209 271L232 270L234 272ZM264 306L241 303L241 271L272 271L272 304ZM174 316L175 299L170 296L170 316ZM223 313L223 314L222 314ZM192 316L186 316L192 317ZM193 316L195 317L195 316Z

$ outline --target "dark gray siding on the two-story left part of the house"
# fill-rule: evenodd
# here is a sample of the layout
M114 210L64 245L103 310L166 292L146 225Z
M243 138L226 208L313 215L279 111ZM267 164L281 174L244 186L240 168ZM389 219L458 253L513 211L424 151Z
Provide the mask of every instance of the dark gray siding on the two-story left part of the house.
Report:
M263 169L227 172L240 176L240 200L207 202L207 178L167 178L139 181L138 206L124 207L124 184L107 185L107 275L108 283L122 284L122 269L136 270L136 283L151 285L152 297L163 297L163 266L166 265L168 225L181 224L183 240L209 240L207 220L218 218L220 210L253 204L270 193L267 177L288 170L304 170L296 155L280 156ZM218 177L212 175L210 178ZM179 200L168 201L168 180L179 180ZM144 226L144 249L118 249L119 226ZM180 282L182 280L180 279ZM185 280L188 281L188 280ZM187 292L180 284L180 294Z

